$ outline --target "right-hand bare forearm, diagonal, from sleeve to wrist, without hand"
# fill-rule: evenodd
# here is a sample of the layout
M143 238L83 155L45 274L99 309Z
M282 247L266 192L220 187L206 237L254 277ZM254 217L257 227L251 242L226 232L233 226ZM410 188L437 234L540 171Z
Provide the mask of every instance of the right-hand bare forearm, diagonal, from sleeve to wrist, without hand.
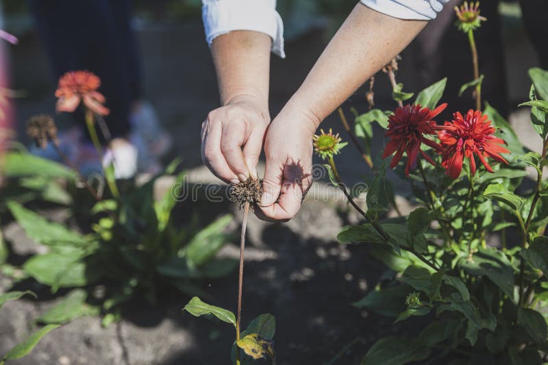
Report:
M404 21L356 5L290 100L316 123L331 114L421 32Z

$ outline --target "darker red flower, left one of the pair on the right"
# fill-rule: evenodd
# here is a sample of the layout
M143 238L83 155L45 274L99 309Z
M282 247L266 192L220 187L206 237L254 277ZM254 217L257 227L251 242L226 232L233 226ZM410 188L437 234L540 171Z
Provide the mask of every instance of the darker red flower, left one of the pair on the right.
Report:
M436 134L438 127L432 118L440 114L446 107L447 103L434 110L421 108L421 105L406 105L403 108L397 108L394 114L388 117L388 131L385 136L389 136L390 141L386 144L382 158L396 152L390 162L390 168L394 168L398 164L403 152L407 153L406 175L409 175L411 168L415 168L419 153L428 162L434 164L434 161L421 150L421 144L424 143L436 151L441 151L439 144L425 138L424 135Z

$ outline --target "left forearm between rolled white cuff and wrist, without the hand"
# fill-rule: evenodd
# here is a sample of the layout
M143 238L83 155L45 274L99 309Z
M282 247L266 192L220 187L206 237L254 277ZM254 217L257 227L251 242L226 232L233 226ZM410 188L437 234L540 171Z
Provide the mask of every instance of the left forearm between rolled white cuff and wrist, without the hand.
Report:
M247 96L268 105L271 42L268 35L252 31L233 31L213 40L222 105Z

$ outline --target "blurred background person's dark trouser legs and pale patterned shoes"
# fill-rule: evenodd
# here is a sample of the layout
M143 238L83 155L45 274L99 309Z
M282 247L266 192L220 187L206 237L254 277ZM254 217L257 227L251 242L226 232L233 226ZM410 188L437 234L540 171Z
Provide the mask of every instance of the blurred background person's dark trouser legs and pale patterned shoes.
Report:
M172 144L152 105L142 99L140 57L131 25L129 0L29 0L38 34L56 79L68 71L85 70L101 79L110 114L105 116L112 140L98 156L79 124L60 134L62 148L82 172L114 162L117 178L156 173L160 158ZM78 116L78 114L75 114ZM103 142L105 142L103 140ZM36 151L37 153L40 153ZM45 151L47 157L56 156Z

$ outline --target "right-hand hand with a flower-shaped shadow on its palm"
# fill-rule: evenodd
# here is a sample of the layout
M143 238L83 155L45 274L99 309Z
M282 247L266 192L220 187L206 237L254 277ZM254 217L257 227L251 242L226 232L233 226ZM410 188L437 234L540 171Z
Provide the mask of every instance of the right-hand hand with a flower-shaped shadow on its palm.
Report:
M288 221L299 212L312 184L312 136L319 121L289 101L266 131L266 170L256 215Z

